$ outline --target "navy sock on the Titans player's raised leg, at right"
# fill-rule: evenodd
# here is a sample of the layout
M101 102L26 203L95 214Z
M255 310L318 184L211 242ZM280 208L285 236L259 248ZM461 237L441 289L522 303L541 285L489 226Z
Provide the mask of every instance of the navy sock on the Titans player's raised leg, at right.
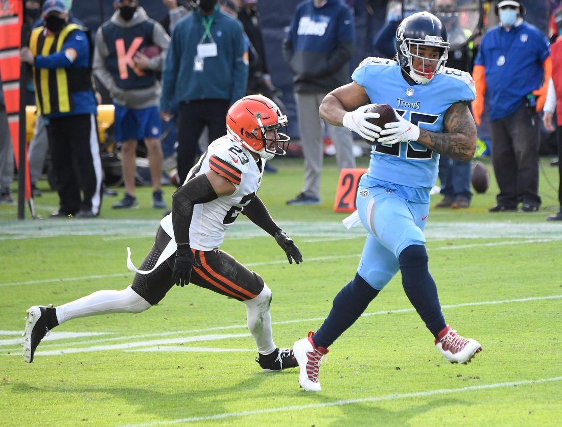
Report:
M398 258L402 273L402 286L406 296L414 306L425 326L437 339L437 335L447 326L437 296L437 286L428 268L425 246L406 247Z

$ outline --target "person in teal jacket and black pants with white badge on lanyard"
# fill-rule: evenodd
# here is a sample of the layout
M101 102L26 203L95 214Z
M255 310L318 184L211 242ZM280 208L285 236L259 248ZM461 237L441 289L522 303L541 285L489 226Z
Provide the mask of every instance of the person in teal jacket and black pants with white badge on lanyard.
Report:
M179 102L179 182L193 167L203 128L209 126L210 141L225 135L228 108L246 93L248 52L244 30L216 3L196 0L197 8L178 22L162 72L162 120L170 120L174 95Z

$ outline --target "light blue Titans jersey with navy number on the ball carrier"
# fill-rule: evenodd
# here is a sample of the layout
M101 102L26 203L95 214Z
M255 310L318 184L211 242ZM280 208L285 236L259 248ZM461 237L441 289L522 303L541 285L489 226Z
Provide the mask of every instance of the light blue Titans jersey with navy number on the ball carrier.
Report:
M411 86L392 59L366 58L351 78L365 88L371 103L389 104L414 125L438 133L443 131L447 108L472 102L476 93L470 74L454 68L445 68L428 84ZM406 200L429 203L438 163L439 154L417 143L374 146L361 185L383 186Z

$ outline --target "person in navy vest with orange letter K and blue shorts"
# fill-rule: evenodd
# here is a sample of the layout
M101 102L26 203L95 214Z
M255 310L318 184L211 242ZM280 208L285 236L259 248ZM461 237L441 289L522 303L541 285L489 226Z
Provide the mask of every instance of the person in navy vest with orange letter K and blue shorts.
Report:
M107 88L115 105L115 140L121 143L121 165L125 180L123 200L113 209L133 208L137 141L144 139L148 150L148 166L152 178L152 207L166 209L162 199L162 153L158 99L160 82L156 72L162 71L170 38L158 22L149 19L138 1L113 3L116 11L96 34L93 70ZM156 46L161 52L151 58L142 52Z

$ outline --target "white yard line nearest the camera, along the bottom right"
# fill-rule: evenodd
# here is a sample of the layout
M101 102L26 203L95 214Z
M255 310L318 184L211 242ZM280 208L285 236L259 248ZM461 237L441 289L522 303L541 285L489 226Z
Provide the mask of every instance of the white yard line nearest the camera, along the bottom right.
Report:
M461 387L461 388L442 388L439 390L428 390L424 392L415 392L415 393L402 393L402 394L393 393L393 394L387 394L386 396L379 396L379 397L364 397L361 399L338 400L335 402L310 403L309 405L284 406L280 408L257 409L255 411L226 412L224 414L216 414L216 415L202 416L202 417L180 418L178 420L170 420L170 421L155 421L153 423L143 423L143 424L126 424L126 425L121 425L119 427L152 427L155 425L193 423L195 421L221 420L230 417L271 414L273 412L302 411L302 410L315 409L315 408L344 406L344 405L352 405L353 403L381 402L381 401L389 401L389 400L396 400L396 399L408 399L412 397L426 397L426 396L435 396L439 394L471 392L471 391L487 390L487 389L501 388L501 387L515 387L519 385L552 383L560 380L562 380L562 377L514 381L509 383L481 384L481 385L472 385L469 387Z

